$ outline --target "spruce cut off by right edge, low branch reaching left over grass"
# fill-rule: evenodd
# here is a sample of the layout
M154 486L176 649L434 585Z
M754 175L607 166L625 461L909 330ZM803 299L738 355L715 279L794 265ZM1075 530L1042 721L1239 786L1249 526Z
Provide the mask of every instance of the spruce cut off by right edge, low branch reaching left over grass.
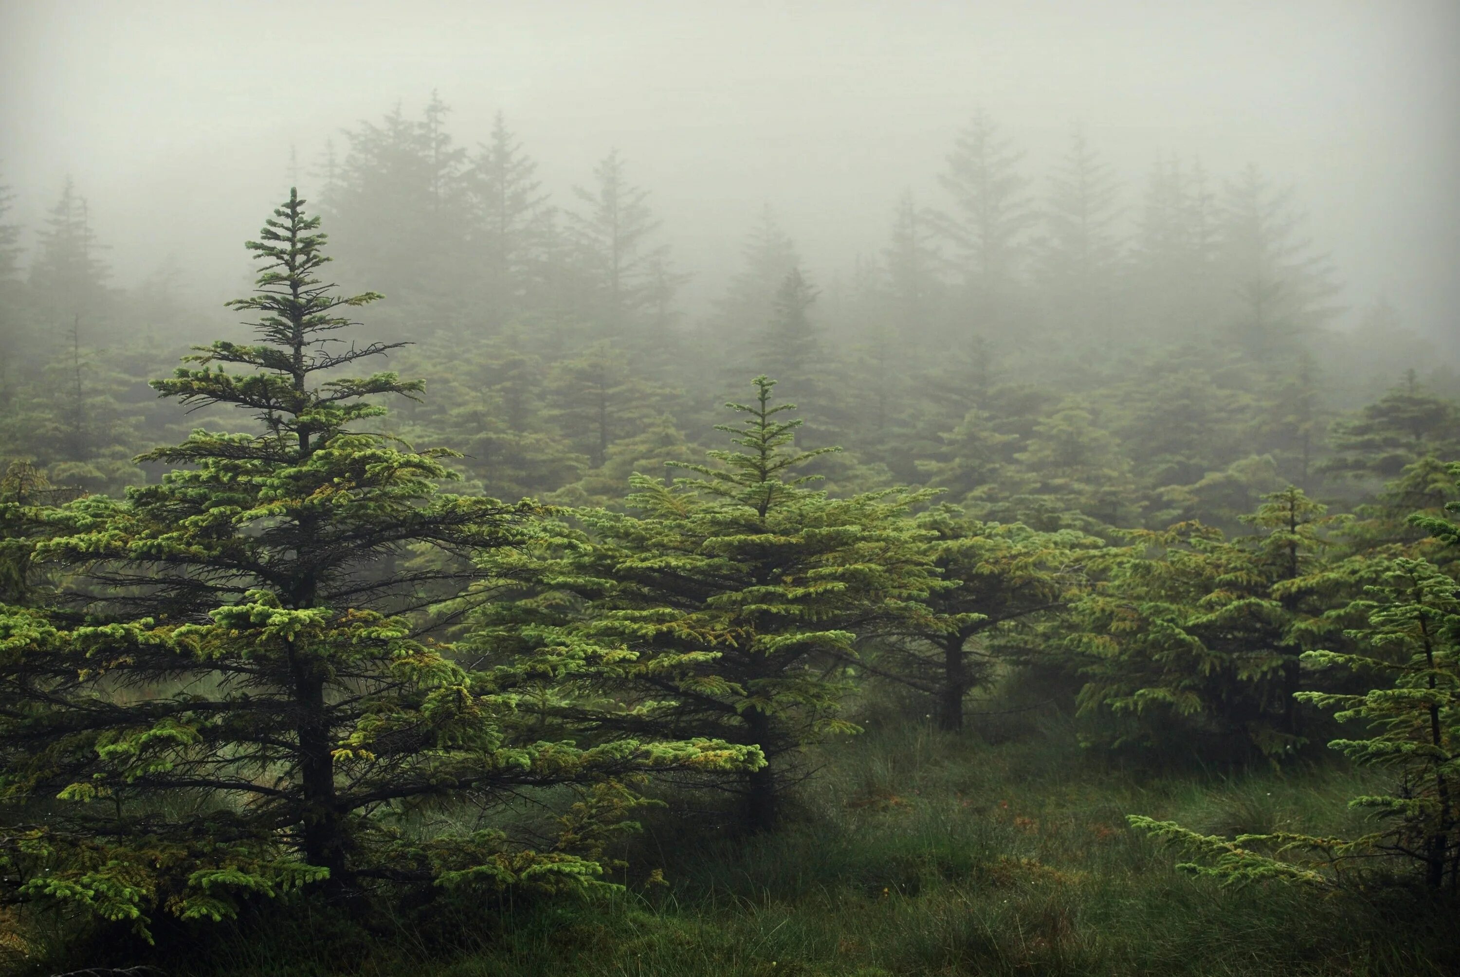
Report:
M1460 466L1451 472L1460 476ZM1453 502L1448 508L1460 511ZM1416 523L1451 546L1460 543L1460 529L1451 521L1419 516ZM1250 834L1226 840L1169 821L1130 818L1134 827L1193 853L1184 867L1223 882L1334 885L1355 866L1400 860L1418 867L1429 889L1460 891L1460 590L1428 561L1402 556L1350 610L1364 619L1364 627L1349 631L1359 651L1308 651L1304 660L1368 676L1374 688L1298 692L1296 698L1359 724L1359 736L1329 746L1356 764L1394 771L1391 792L1350 802L1374 809L1380 827L1358 838Z

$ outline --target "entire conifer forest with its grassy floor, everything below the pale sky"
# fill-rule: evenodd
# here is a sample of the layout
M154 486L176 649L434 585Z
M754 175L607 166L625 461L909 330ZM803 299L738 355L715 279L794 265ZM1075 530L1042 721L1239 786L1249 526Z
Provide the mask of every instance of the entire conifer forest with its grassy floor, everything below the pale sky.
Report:
M1343 200L971 108L698 269L450 95L218 301L0 197L6 973L1460 973L1460 359Z

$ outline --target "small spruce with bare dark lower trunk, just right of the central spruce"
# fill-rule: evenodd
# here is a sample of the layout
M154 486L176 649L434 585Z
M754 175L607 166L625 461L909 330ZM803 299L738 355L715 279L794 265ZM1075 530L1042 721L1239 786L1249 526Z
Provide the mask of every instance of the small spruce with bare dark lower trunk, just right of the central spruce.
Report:
M981 523L956 505L920 516L917 527L931 535L939 584L923 599L923 613L876 635L867 667L931 698L939 727L961 730L964 700L994 676L999 643L1060 610L1082 586L1082 551L1101 543L1075 532Z

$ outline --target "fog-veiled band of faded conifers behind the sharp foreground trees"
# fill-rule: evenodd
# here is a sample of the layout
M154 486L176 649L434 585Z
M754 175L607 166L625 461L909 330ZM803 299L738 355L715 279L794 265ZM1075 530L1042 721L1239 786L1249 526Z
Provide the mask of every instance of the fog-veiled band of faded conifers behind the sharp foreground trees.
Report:
M1079 129L1035 166L977 112L924 188L888 190L886 240L853 267L810 267L768 203L724 229L737 266L685 269L619 150L555 190L507 117L482 133L451 120L432 93L295 168L342 279L388 296L371 329L451 388L400 431L514 491L583 497L648 418L695 445L756 372L803 405L799 440L844 448L822 461L834 489L936 483L974 516L1051 529L1232 526L1286 482L1352 505L1448 447L1431 440L1451 426L1453 362L1406 339L1391 305L1345 305L1298 188L1256 164L1162 155L1124 185ZM115 494L174 424L142 380L196 327L165 275L112 279L73 181L44 226L3 226L0 450ZM1350 456L1381 442L1383 461Z

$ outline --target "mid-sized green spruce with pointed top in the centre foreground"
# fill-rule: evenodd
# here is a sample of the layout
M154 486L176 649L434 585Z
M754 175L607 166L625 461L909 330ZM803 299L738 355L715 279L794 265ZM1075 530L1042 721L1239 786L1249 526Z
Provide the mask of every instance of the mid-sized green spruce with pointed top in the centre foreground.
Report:
M502 647L536 625L562 657L616 656L619 676L599 685L606 732L758 748L765 762L729 784L750 831L777 824L803 746L857 732L838 717L857 631L914 613L936 581L927 533L905 518L926 497L807 488L793 470L834 448L793 447L800 421L783 419L794 405L772 405L774 386L758 377L755 403L727 405L742 422L717 429L739 450L682 466L699 478L637 475L628 513L578 511L585 532L565 551L501 564L545 593L495 609L482 635Z

